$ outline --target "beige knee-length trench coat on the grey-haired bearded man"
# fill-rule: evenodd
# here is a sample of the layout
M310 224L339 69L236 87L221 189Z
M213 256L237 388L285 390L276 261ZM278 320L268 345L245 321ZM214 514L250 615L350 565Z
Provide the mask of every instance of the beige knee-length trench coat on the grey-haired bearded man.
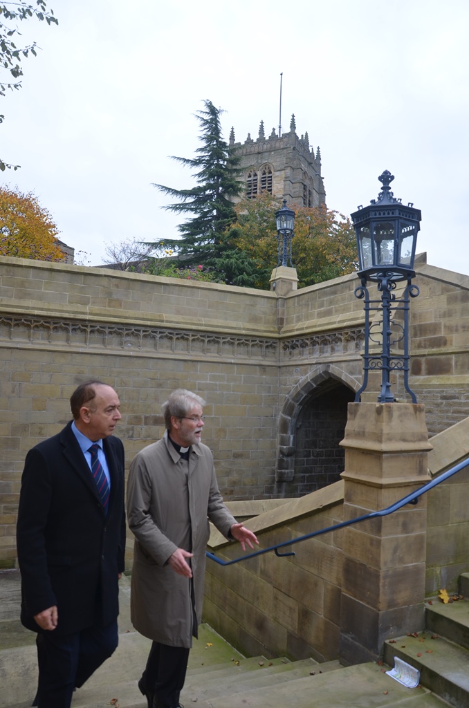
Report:
M208 519L228 536L235 518L218 491L213 456L201 443L188 461L167 438L148 445L130 465L127 514L135 535L130 616L140 634L169 646L192 646L195 595L200 624ZM193 579L167 565L177 548L193 553ZM193 586L192 586L193 583Z

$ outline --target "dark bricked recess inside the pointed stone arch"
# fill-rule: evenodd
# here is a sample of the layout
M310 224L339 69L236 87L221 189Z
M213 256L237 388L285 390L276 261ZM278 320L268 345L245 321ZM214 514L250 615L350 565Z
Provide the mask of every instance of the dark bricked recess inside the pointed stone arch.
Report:
M355 393L335 379L304 401L296 421L295 482L301 496L337 482L344 472L347 404Z

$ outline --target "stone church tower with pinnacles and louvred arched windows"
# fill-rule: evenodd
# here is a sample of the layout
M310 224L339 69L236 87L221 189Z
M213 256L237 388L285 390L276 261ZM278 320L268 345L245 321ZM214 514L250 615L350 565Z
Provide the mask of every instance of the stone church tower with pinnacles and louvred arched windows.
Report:
M296 135L295 115L292 115L290 132L280 137L275 128L266 138L264 121L261 120L259 137L253 140L250 133L244 144L235 142L235 130L230 133L230 147L240 158L248 199L255 199L263 191L274 197L286 199L288 205L317 207L326 202L324 182L321 177L321 154L310 147L310 139Z

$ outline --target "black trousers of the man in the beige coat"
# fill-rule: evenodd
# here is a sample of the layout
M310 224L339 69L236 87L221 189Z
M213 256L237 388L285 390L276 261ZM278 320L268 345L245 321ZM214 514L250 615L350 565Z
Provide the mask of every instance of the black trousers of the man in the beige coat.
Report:
M152 643L142 679L158 707L176 708L179 704L189 651L184 646L168 646L159 641Z

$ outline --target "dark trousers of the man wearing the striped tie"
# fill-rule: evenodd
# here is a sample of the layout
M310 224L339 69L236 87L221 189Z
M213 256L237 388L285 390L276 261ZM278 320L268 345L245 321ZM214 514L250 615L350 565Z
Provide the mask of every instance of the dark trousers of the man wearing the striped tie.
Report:
M69 708L74 688L82 686L118 646L117 620L108 627L89 627L57 636L41 632L38 647L38 707Z

